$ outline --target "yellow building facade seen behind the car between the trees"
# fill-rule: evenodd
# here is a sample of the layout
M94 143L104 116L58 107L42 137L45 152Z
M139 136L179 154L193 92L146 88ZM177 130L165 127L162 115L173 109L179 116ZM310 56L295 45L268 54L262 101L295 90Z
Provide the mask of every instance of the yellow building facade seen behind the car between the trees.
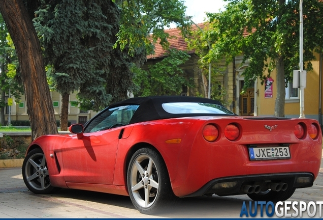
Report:
M322 107L322 58L315 54L316 60L312 61L313 70L307 72L306 88L304 89L304 114L305 118L316 119L321 124L321 107ZM241 89L245 78L243 71L247 68L248 63L241 65L242 57L236 57L235 69L229 68L229 73L235 81L229 85L229 91L232 90L231 96L235 103L234 112L237 115L250 116L273 116L275 109L275 100L277 97L276 69L271 73L271 79L262 85L260 79L254 81L253 88L247 90L247 94L241 94ZM266 75L267 72L264 72ZM293 88L293 82L288 82L285 88L285 117L299 118L301 115L299 89Z

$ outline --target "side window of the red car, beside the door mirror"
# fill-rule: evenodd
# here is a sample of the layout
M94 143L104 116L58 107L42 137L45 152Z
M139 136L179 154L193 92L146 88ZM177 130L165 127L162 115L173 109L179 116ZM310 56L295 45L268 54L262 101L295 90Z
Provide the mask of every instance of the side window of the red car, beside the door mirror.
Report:
M124 105L109 108L106 111L99 113L99 115L86 126L84 133L127 125L130 123L130 120L138 107L139 105Z

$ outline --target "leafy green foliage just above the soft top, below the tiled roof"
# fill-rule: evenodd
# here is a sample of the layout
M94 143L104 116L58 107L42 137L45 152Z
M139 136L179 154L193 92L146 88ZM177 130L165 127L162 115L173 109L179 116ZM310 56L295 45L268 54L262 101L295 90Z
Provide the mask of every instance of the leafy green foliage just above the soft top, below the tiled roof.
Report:
M183 86L193 86L182 76L184 71L180 68L188 59L189 55L186 52L170 49L168 56L150 65L149 70L134 67L134 81L140 88L134 95L180 95Z

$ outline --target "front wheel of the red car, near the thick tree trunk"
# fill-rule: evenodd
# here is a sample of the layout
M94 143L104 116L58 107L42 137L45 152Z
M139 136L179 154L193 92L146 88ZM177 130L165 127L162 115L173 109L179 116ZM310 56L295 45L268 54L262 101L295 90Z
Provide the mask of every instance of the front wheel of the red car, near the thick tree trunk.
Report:
M22 163L22 177L28 189L35 194L51 194L60 189L50 184L46 158L40 148L26 155Z

